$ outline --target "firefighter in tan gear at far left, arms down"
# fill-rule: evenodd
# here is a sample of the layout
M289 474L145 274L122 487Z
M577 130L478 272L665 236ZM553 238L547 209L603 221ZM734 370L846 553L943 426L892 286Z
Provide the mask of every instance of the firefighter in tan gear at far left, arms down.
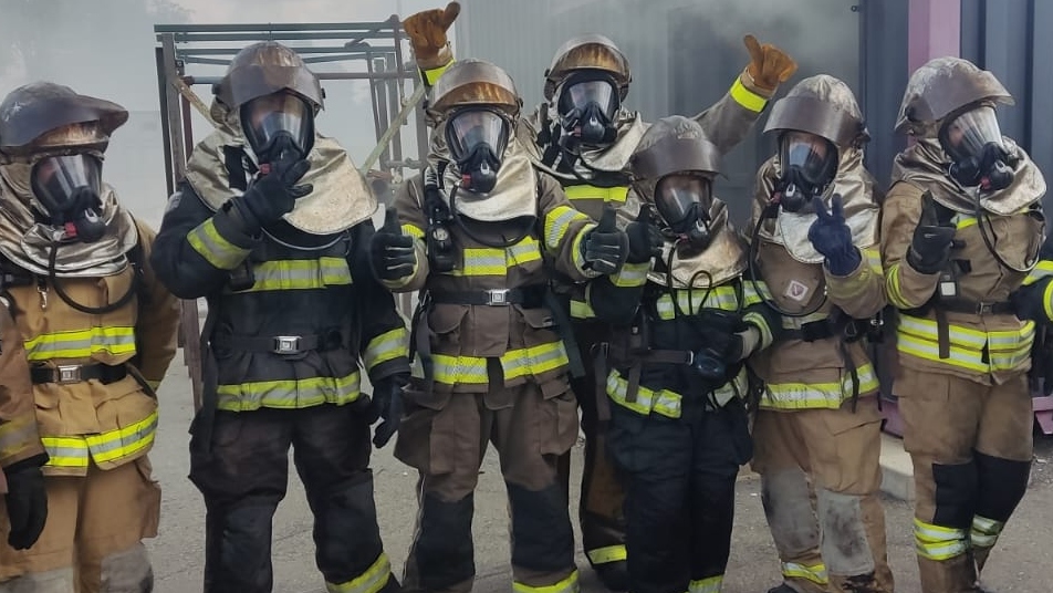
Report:
M0 591L153 590L142 540L157 534L160 488L147 452L179 312L149 266L154 231L102 177L127 119L50 82L0 103L0 272L30 364L50 511L35 545L0 545Z

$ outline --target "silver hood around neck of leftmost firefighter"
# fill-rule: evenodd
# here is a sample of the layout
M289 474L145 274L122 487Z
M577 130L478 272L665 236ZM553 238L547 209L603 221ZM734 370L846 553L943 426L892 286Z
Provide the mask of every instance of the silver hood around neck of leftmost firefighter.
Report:
M49 274L49 258L65 229L37 222L30 188L29 164L0 166L0 253L15 266L37 274ZM59 278L104 277L128 266L127 253L138 241L132 216L117 202L113 188L102 186L101 218L106 232L92 243L60 243L54 273Z

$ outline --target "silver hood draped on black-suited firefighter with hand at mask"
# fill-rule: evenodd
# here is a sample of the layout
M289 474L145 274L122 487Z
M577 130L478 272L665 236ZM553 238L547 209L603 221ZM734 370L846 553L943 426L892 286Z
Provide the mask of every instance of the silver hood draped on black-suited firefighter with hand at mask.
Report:
M226 148L241 149L256 164L256 155L241 133L237 113L212 102L217 129L195 146L187 164L187 183L213 210L240 196L231 187L226 166ZM354 227L376 211L377 201L355 164L340 144L315 132L314 147L307 155L311 169L301 184L314 185L314 191L296 200L284 216L290 225L311 235L332 235Z

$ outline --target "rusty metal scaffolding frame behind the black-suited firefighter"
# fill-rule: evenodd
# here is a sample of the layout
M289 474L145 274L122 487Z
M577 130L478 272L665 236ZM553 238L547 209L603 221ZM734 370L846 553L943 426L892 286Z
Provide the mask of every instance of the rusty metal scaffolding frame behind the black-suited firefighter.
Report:
M369 82L373 100L373 124L376 147L361 164L359 170L378 194L380 201L389 201L388 181L405 177L405 169L420 169L426 163L428 131L420 112L425 86L404 43L407 41L398 17L377 22L344 23L260 23L260 24L158 24L157 90L161 112L161 135L165 150L165 170L168 194L186 174L186 164L194 147L190 110L197 110L206 121L208 105L194 92L195 85L219 82L219 76L195 75L195 65L222 65L242 48L258 41L279 41L295 50L305 63L338 64L362 61L365 72L317 72L322 81ZM413 84L407 93L406 83ZM209 94L211 92L209 91ZM403 127L416 112L417 158L408 158L403 150ZM376 168L374 168L376 166ZM405 310L407 302L402 303ZM180 315L179 341L184 363L188 366L194 388L195 408L201 403L201 352L198 342L198 302L184 301Z

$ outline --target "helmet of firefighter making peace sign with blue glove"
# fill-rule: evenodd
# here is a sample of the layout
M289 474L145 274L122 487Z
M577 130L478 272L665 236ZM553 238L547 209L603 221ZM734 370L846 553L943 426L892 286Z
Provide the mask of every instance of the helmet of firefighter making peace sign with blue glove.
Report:
M870 139L852 89L828 74L804 79L772 106L764 133L788 129L815 134L841 148Z

